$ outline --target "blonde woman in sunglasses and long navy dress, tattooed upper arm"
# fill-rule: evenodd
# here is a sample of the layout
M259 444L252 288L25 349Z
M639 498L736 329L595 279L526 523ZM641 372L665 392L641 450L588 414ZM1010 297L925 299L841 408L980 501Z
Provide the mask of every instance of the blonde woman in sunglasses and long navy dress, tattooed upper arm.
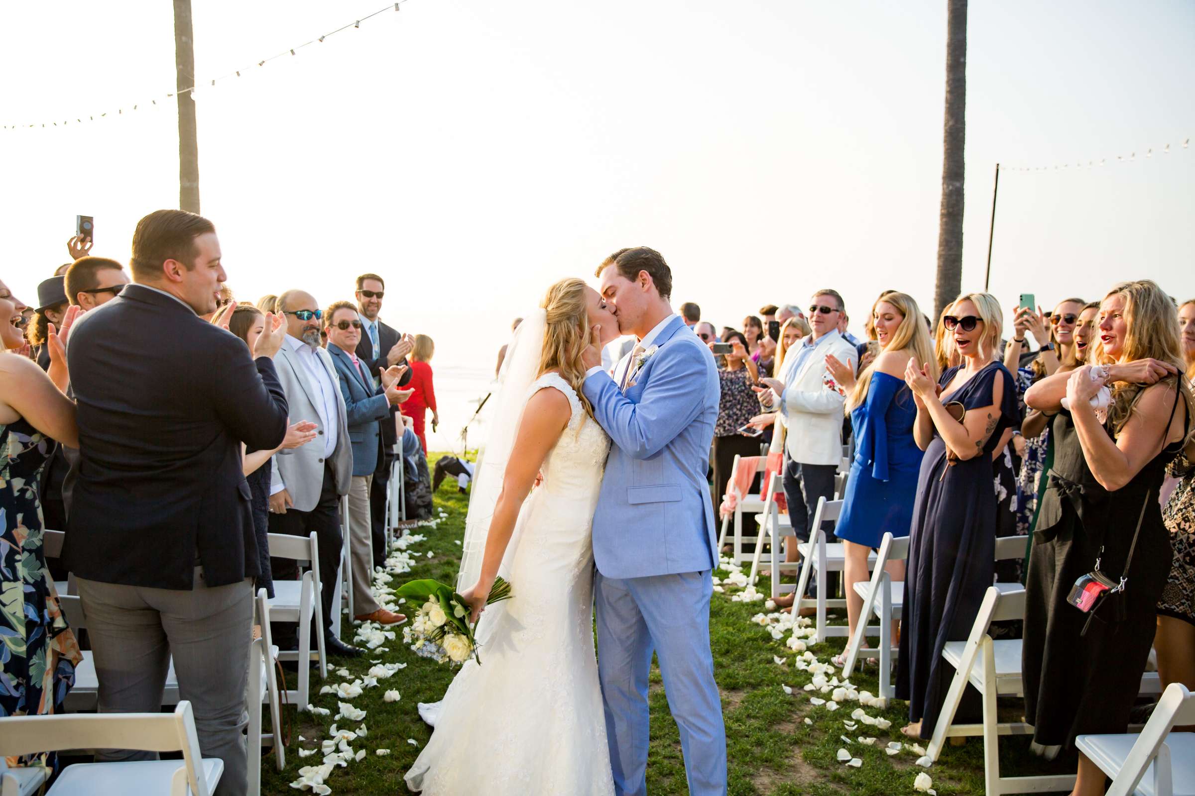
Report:
M930 738L954 669L948 641L964 641L994 575L997 494L993 453L1021 422L1012 375L994 360L1000 304L991 294L960 296L943 325L962 364L934 384L929 363L909 358L913 437L925 451L909 526L908 575L901 619L896 697L908 701L912 738ZM978 721L979 693L968 689L958 721Z

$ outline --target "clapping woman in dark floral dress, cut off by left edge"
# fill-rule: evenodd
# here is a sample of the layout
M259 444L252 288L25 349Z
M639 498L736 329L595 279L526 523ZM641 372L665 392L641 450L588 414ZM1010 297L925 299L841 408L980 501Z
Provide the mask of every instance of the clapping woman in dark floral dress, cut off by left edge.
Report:
M6 351L25 346L25 303L0 282L0 341ZM62 319L62 337L79 310ZM0 718L62 712L82 661L59 605L42 549L41 470L54 440L79 445L74 401L67 385L66 348L54 325L47 327L49 375L26 357L0 353ZM49 755L53 757L53 755ZM49 765L31 755L23 765Z

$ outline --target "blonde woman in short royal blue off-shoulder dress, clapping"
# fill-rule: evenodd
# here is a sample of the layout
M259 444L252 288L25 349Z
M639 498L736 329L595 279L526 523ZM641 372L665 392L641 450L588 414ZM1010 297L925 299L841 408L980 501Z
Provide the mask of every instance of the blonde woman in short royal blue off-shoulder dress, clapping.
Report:
M881 295L871 308L871 317L880 354L857 380L834 357L826 357L835 378L851 390L846 411L856 439L842 516L834 529L846 557L846 615L851 635L863 609L863 599L852 584L869 579L868 554L880 547L885 532L908 536L913 517L921 449L913 440L917 405L905 384L905 368L912 358L927 363L931 377L938 376L933 341L912 296L895 291ZM903 561L893 562L888 570L893 580L905 580ZM835 658L834 665L841 666L842 658Z

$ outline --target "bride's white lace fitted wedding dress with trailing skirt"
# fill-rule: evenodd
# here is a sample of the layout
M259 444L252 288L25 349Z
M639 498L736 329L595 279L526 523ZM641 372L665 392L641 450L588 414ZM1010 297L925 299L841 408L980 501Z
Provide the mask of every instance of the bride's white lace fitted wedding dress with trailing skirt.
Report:
M545 387L569 399L572 416L508 547L513 598L482 615L482 664L461 666L434 705L435 732L406 773L424 796L614 792L589 543L609 438L558 374L535 380L528 397Z

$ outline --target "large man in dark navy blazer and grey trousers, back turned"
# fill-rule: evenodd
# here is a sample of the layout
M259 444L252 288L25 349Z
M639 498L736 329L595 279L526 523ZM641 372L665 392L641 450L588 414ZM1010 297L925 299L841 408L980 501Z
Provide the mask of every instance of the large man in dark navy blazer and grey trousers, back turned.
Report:
M286 436L272 362L286 329L266 315L250 354L200 317L226 280L207 218L149 214L129 266L134 284L81 315L67 347L79 465L65 557L87 615L100 712L158 712L173 659L200 752L223 760L215 794L244 794L258 555L241 443L269 450Z

